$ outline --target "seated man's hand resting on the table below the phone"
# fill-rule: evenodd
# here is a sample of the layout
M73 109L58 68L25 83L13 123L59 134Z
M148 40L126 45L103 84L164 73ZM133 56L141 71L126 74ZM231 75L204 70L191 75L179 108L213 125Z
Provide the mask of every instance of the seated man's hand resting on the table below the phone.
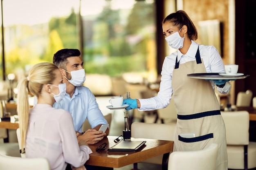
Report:
M98 143L103 139L106 133L102 133L102 131L98 131L96 129L88 129L83 134L77 137L78 142L80 140L85 141L88 145L93 145Z

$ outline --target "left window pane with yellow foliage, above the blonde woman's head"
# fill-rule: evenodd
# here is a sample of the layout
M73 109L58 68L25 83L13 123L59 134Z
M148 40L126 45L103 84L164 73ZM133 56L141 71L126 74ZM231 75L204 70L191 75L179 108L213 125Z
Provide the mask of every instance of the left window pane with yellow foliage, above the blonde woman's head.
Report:
M78 9L79 0L4 0L6 73L24 76L57 50L77 48Z

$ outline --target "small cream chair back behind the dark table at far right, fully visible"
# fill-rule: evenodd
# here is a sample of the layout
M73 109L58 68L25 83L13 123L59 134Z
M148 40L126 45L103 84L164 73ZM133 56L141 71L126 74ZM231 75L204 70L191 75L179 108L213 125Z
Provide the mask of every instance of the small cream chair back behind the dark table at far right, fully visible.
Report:
M240 91L237 94L236 106L239 106L239 107L250 106L251 102L252 102L252 91L251 90L247 90L246 92Z

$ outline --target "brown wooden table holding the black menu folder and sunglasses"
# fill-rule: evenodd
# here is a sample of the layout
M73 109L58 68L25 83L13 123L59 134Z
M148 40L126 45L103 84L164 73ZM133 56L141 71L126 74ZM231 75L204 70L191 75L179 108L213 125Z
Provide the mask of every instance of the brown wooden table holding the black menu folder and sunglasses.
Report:
M116 138L115 136L108 136L97 144L89 145L92 154L90 154L90 159L85 164L109 167L110 169L120 168L164 154L163 159L166 160L163 160L165 163L162 165L162 169L167 170L167 160L169 152L173 151L173 141L131 138L131 140L146 141L146 146L137 152L108 152L108 148L115 145L114 139ZM96 148L105 141L108 143L106 150L96 151Z

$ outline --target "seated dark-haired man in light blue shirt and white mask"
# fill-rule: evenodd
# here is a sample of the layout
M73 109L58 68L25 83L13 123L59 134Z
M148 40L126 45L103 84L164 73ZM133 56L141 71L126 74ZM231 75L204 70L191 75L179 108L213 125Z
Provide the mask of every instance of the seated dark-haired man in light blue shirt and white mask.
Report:
M54 103L54 108L67 110L73 117L74 127L78 138L87 144L96 144L108 135L98 131L102 124L108 124L104 118L96 99L89 88L82 86L85 81L85 70L78 49L61 49L54 54L53 63L56 64L63 76L63 83L67 84L64 99ZM81 133L85 119L88 119L92 129Z

